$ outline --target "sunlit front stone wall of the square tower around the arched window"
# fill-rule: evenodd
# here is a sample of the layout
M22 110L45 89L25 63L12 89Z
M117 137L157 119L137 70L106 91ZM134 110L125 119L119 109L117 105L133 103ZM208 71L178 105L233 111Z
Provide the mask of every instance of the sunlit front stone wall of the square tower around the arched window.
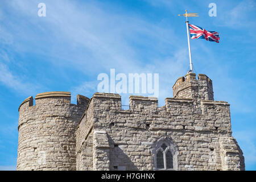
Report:
M158 169L156 146L164 141L172 148L175 170L244 170L242 151L232 137L229 104L213 101L211 81L202 77L201 97L192 97L187 88L181 92L190 98L177 94L162 107L156 98L130 96L130 109L122 110L118 94L94 94L77 130L82 133L80 126L88 126L86 135L93 136L93 170ZM77 159L80 168L88 165L84 161Z

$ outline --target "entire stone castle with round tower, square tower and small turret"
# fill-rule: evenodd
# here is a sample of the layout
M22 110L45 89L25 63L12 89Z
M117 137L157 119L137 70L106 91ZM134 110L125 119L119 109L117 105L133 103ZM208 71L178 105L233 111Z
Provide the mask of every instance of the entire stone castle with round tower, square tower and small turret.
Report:
M40 93L19 107L18 170L244 170L228 102L188 73L159 107L155 97Z

